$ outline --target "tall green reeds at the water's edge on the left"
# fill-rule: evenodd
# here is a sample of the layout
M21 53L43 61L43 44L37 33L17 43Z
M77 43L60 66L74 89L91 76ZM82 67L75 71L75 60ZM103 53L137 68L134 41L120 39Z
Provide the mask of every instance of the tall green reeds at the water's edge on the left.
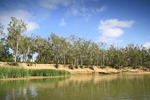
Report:
M24 68L0 67L0 78L24 78L29 76L67 76L69 72L63 70L28 70Z

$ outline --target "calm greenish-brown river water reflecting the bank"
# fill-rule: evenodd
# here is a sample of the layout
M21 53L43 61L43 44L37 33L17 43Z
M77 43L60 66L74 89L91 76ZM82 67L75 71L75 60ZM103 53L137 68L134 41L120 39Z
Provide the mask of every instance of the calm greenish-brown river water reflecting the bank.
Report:
M150 74L0 80L0 100L150 100Z

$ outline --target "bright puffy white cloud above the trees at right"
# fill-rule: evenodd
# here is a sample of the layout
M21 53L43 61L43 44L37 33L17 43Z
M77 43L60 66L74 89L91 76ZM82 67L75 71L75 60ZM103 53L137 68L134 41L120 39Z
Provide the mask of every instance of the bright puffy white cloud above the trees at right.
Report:
M102 35L99 37L99 41L106 43L122 41L117 40L117 38L124 33L124 30L122 28L129 28L133 25L133 23L133 20L121 21L118 19L108 19L105 21L100 21L98 30Z

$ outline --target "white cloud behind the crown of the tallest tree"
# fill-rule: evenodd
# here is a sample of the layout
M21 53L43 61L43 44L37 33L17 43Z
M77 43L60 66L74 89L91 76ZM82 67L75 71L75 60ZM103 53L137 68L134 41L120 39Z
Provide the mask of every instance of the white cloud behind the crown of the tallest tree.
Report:
M1 12L0 16L0 22L7 27L10 18L16 17L17 19L21 19L27 23L27 31L32 31L39 27L39 25L36 22L33 22L34 16L32 16L29 12L25 10L9 10L9 11L3 11Z

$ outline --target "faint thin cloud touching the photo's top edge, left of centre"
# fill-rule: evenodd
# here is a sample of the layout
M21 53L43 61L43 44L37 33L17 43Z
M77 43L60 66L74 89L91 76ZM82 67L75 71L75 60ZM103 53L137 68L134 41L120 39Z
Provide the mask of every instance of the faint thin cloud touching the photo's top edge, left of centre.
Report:
M59 5L68 6L71 0L39 0L42 7L56 9Z

